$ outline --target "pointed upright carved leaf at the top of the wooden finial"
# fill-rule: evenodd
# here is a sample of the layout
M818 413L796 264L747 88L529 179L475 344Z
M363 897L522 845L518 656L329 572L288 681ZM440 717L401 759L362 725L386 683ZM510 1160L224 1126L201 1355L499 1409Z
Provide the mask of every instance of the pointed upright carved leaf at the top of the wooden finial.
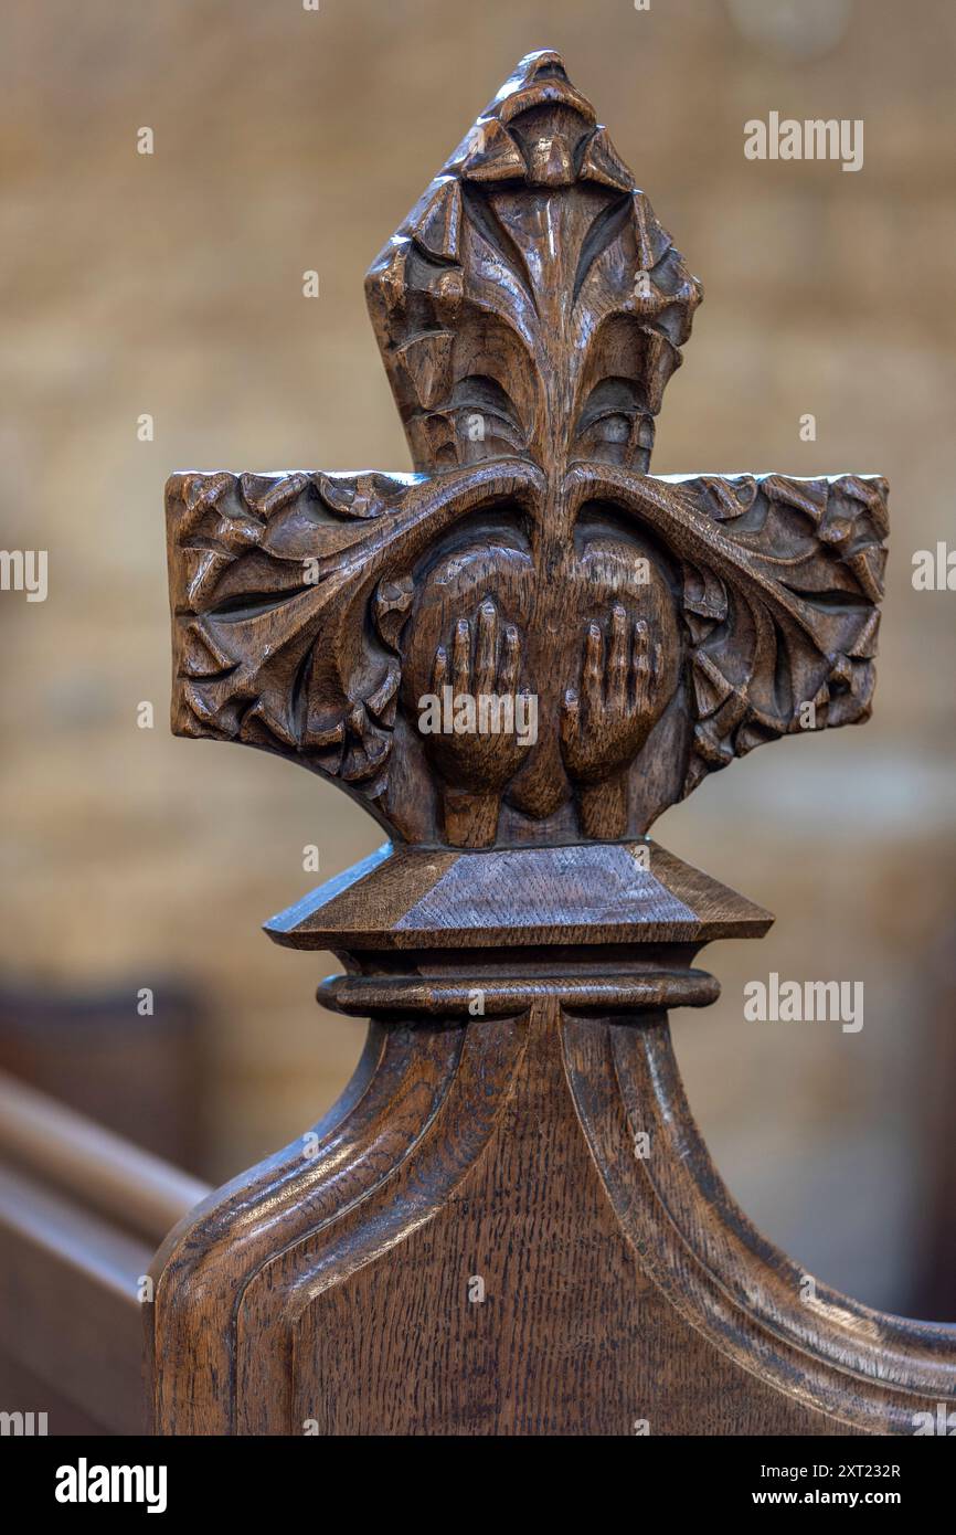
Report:
M373 264L368 304L416 467L509 451L648 468L700 284L557 54L534 54ZM462 384L508 430L462 422ZM470 424L483 419L482 434ZM500 421L499 421L500 425Z

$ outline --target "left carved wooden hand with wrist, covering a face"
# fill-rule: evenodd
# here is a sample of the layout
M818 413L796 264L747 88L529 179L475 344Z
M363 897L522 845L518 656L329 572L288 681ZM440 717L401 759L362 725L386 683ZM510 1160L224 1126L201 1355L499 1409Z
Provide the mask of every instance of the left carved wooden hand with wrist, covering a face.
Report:
M451 655L436 651L419 729L445 780L445 832L457 846L494 841L505 784L537 740L537 697L519 692L520 665L519 631L491 597L473 620L457 620Z

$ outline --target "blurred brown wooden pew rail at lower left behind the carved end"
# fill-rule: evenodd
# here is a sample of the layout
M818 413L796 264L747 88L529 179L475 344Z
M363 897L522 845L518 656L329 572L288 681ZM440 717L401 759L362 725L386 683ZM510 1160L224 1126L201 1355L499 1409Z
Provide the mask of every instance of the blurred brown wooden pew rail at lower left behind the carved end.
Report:
M135 1108L137 1093L130 1091ZM141 1434L141 1280L209 1188L0 1073L0 1406Z

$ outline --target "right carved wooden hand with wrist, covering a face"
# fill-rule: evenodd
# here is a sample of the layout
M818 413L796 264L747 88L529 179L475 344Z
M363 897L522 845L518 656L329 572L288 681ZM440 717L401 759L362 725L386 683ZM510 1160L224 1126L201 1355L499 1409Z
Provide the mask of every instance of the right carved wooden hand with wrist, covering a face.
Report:
M580 691L562 705L562 755L582 786L586 837L620 837L626 827L626 774L657 723L663 703L661 646L644 619L611 609L608 640L595 620L585 631Z

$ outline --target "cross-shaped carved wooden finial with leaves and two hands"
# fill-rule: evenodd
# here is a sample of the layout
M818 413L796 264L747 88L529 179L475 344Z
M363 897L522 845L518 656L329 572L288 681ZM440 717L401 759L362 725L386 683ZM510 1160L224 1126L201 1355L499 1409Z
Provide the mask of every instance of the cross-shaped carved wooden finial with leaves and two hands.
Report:
M885 482L648 473L701 289L557 54L367 295L416 473L170 479L178 734L488 846L638 835L761 741L867 718Z

